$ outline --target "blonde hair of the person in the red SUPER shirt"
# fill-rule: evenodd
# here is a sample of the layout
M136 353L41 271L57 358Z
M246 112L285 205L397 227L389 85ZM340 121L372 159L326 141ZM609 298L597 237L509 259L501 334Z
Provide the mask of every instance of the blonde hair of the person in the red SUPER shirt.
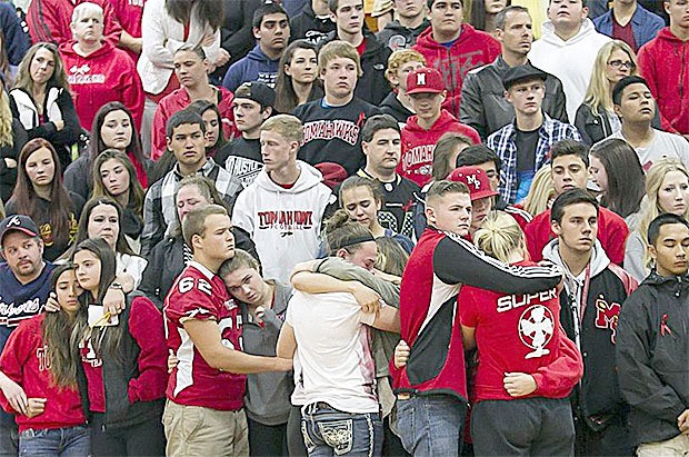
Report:
M473 234L473 244L490 257L507 264L517 249L523 249L523 232L513 217L495 211Z

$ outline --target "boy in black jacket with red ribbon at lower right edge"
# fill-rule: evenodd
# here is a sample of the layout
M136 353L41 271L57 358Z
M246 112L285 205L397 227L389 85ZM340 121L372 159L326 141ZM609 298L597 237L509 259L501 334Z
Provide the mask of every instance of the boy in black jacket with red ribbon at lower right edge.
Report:
M617 368L639 457L689 455L689 222L665 213L648 228L655 269L620 312ZM683 367L683 368L682 368Z

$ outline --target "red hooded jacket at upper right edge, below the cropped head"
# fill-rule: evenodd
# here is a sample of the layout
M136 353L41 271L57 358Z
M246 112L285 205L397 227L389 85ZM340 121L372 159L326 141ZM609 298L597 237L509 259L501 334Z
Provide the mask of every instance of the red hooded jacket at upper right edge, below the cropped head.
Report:
M639 71L660 109L662 129L689 135L689 42L669 27L639 50Z

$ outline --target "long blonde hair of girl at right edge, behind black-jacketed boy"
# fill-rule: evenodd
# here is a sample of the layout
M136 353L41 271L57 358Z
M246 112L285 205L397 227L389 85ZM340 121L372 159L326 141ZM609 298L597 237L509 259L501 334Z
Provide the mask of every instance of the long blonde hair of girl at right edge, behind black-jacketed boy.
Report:
M689 179L689 171L687 171L679 159L658 160L646 173L646 197L643 197L641 202L641 217L639 218L637 230L641 234L640 238L643 240L643 246L646 247L643 265L647 267L650 267L651 258L648 254L646 232L651 221L665 212L658 203L658 192L660 191L660 186L662 186L665 177L671 171L679 171ZM682 217L685 219L689 218L689 206L687 206L687 210L685 210Z

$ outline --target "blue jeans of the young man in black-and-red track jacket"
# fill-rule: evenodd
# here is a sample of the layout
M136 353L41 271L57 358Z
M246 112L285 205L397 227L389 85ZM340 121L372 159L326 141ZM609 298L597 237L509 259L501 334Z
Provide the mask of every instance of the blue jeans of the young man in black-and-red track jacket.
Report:
M467 406L450 395L397 400L397 428L412 456L457 456Z

